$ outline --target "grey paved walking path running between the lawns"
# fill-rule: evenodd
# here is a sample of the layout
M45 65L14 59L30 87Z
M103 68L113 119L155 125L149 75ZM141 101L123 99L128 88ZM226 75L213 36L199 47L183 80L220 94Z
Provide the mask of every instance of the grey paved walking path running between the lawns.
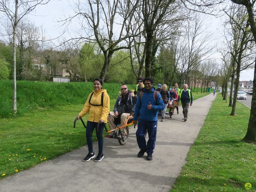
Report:
M0 191L15 192L168 192L180 174L213 100L212 94L193 102L188 120L180 114L158 120L153 160L138 158L136 130L130 128L128 142L104 139L101 162L83 162L87 146L49 160L0 181ZM94 142L94 151L98 144Z

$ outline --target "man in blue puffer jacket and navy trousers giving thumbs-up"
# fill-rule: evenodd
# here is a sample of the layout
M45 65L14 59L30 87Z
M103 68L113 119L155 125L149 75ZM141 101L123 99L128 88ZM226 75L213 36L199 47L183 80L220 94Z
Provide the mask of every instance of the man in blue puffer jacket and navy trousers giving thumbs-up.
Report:
M142 157L144 153L147 152L147 160L152 160L152 153L156 142L158 111L164 109L164 102L161 94L155 92L155 88L152 86L153 80L151 78L145 78L143 84L145 88L138 96L133 120L136 125L138 116L140 117L138 130L136 131L137 143L140 148L138 157ZM144 136L146 130L148 130L147 143Z

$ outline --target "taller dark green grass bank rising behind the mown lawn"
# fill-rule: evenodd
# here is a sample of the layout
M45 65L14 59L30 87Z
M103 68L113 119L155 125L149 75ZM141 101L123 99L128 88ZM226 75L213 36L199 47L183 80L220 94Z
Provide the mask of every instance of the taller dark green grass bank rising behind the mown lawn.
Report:
M0 116L9 118L12 114L12 81L0 80ZM134 85L128 88L134 89ZM118 96L120 84L103 84L111 99ZM93 90L92 82L55 83L17 81L17 115L46 106L83 104Z

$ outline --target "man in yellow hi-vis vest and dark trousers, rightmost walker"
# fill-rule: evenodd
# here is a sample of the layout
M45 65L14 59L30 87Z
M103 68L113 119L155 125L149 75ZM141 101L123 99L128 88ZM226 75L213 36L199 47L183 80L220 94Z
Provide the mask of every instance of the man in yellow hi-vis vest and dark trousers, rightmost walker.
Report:
M178 101L181 101L182 103L182 113L184 116L184 121L188 120L188 107L189 105L192 106L193 103L193 97L192 92L190 89L188 89L188 85L184 84L183 89L180 91L180 96L178 98Z

